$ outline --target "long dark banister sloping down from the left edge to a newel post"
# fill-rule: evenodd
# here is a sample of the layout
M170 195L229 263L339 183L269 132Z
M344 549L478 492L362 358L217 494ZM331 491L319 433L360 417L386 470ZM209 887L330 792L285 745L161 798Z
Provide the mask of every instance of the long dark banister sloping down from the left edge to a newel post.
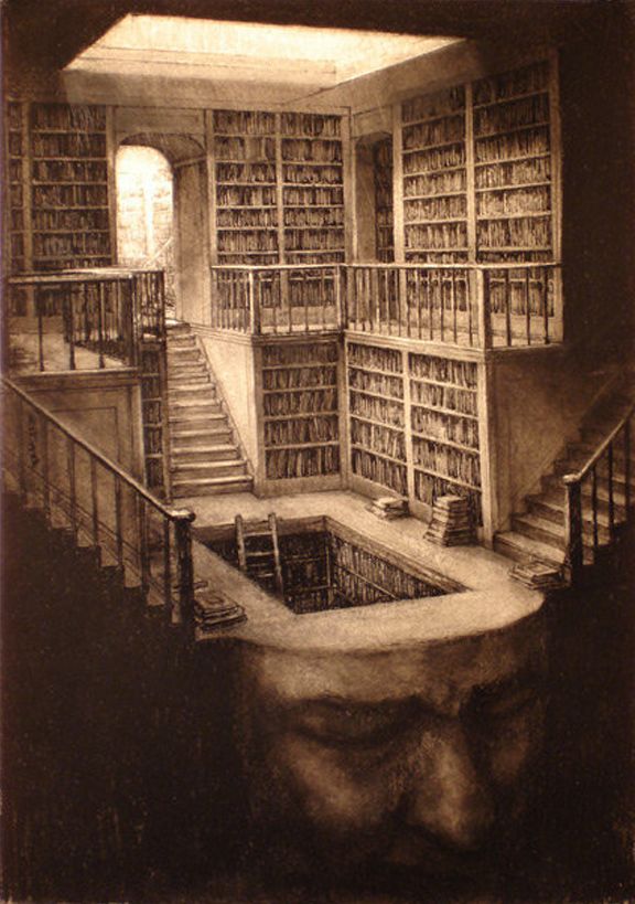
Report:
M10 380L3 386L3 470L25 504L78 545L99 550L172 625L193 626L194 514L165 507Z

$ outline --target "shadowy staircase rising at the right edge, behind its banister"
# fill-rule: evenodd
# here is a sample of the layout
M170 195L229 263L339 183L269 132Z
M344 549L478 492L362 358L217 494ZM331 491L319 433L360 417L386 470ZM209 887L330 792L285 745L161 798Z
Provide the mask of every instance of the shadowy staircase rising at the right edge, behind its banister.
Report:
M542 478L541 492L525 499L524 512L512 515L512 530L496 534L494 549L517 562L531 560L550 563L560 568L567 552L566 532L566 487L563 475L580 471L601 447L633 400L615 397L600 412L590 416L580 432L580 438L570 443L552 466L551 472ZM592 474L580 483L582 518L582 562L591 565L598 554L602 554L612 543L611 504L613 525L626 521L626 479L631 476L631 503L633 502L633 476L635 475L635 436L624 443L621 434L612 443L612 464L604 454ZM628 459L626 459L628 451ZM628 462L628 467L626 464ZM612 503L610 493L612 476ZM595 502L595 506L594 506ZM595 511L595 518L594 518Z

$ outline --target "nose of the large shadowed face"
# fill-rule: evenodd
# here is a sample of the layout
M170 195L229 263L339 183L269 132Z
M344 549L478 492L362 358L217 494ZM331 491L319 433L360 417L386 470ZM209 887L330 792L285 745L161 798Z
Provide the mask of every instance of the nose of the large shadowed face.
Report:
M418 738L409 758L405 805L407 825L444 845L470 851L487 838L494 801L460 725L437 725Z

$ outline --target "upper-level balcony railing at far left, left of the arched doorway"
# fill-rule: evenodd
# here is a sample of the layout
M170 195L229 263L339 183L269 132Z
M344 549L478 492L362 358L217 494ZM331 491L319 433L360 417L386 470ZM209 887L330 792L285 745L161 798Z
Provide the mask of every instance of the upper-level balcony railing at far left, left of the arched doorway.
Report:
M14 371L134 366L144 338L165 336L162 270L104 267L25 274L7 286Z

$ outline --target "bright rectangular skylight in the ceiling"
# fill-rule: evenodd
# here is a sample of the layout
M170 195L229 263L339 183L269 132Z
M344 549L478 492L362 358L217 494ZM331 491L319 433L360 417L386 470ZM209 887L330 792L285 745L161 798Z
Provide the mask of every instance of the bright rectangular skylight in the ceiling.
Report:
M130 14L67 70L331 87L458 40Z

